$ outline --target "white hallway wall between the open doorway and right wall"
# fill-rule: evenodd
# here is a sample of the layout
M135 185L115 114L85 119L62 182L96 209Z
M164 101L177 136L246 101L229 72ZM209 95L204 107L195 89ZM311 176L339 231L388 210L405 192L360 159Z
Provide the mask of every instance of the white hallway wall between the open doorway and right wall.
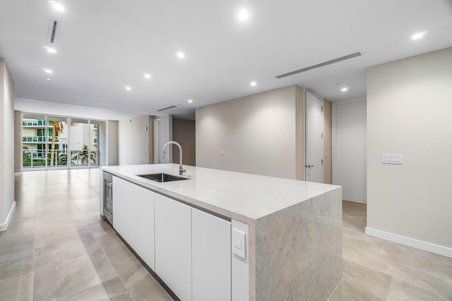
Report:
M343 187L343 199L366 203L366 99L334 102L332 111L333 184Z

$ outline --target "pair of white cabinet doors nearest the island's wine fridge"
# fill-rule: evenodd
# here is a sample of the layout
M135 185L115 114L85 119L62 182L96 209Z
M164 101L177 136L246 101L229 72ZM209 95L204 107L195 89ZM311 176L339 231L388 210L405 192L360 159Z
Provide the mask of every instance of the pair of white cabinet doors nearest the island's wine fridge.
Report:
M148 189L113 177L113 228L153 270L154 195Z

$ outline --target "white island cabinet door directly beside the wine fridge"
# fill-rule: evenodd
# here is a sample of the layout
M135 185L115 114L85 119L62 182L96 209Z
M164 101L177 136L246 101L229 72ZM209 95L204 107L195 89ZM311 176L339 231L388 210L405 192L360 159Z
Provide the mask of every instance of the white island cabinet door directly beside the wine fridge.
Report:
M136 185L113 177L113 228L135 248L136 243Z

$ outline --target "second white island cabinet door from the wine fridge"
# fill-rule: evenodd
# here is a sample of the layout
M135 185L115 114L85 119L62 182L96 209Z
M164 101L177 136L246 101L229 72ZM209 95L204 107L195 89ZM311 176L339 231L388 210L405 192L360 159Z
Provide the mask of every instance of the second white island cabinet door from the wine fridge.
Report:
M155 271L154 195L136 186L136 248L135 251Z

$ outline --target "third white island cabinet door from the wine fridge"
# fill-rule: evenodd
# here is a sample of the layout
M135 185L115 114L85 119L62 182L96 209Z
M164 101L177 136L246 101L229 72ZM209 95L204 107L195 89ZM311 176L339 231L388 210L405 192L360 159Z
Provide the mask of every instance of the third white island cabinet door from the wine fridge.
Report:
M191 207L155 194L155 272L191 300Z

